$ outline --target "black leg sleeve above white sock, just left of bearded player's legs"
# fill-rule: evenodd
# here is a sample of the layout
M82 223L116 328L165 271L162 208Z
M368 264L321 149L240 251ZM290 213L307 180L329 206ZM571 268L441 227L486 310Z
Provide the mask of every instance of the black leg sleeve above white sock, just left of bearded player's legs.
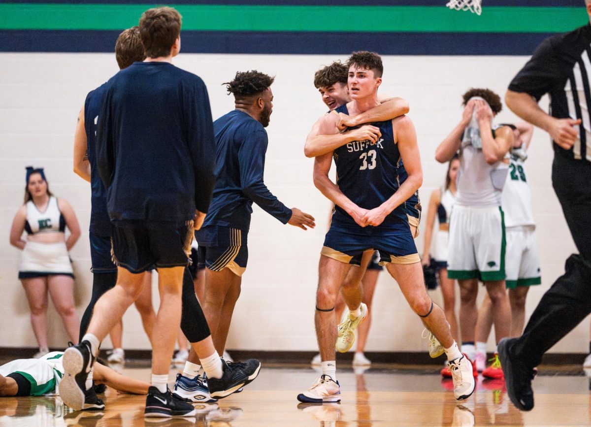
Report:
M189 269L183 274L183 312L181 315L181 331L189 342L199 342L209 337L209 325L195 295L193 277Z

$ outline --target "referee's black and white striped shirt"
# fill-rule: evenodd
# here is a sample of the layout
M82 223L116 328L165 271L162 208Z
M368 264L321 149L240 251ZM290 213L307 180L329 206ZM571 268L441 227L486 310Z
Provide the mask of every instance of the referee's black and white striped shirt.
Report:
M566 157L591 162L591 25L545 39L509 85L536 100L548 93L550 114L582 119L579 138L570 150L554 144Z

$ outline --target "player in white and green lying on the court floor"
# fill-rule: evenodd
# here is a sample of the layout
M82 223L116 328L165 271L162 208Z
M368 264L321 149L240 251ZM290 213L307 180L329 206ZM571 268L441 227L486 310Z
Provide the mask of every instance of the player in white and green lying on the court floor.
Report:
M17 359L0 366L0 397L54 396L64 376L62 351L52 351L38 359ZM95 383L105 384L118 392L147 394L150 384L116 373L108 366L95 363ZM95 396L96 397L96 396ZM83 410L102 410L100 399L87 401Z

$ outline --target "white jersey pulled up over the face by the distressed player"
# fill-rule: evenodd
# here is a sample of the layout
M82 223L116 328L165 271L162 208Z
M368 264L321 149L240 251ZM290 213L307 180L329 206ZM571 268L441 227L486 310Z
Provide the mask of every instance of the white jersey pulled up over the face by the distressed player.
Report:
M502 161L486 163L482 149L469 142L460 148L456 203L462 206L501 206L508 167Z

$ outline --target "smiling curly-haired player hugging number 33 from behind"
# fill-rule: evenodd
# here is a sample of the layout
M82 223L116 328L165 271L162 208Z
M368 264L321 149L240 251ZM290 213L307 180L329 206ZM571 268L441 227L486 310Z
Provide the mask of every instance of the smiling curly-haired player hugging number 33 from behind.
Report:
M322 95L322 101L330 111L351 101L349 89L347 86L348 78L349 68L346 66L346 64L343 64L339 61L333 62L329 66L323 67L314 74L314 86L318 89L320 95ZM381 102L382 103L380 105L375 106L374 108L371 108L355 117L339 113L339 127L353 128L339 134L319 135L318 128L320 126L320 122L322 121L322 118L320 118L314 124L312 131L306 138L304 154L306 154L307 157L322 156L322 154L329 153L333 150L336 150L336 148L339 148L342 145L355 140L365 140L366 138L369 138L372 141L377 141L377 139L381 136L379 133L379 128L369 124L362 125L363 123L391 120L403 114L407 114L409 111L408 102L402 98L388 98L383 99ZM362 126L358 127L359 125ZM411 206L409 212L413 213L413 215L409 215L408 217L409 222L413 224L411 225L411 229L414 226L415 231L417 231L418 221L420 219L420 203L418 202L418 192L411 196L411 199L408 200L408 203ZM412 208L413 206L414 209ZM413 235L415 235L415 231L413 231ZM351 288L361 289L353 292L363 293L362 304L365 306L365 309L368 313L365 320L363 321L363 326L359 326L361 329L359 329L359 342L357 351L353 357L353 365L368 366L371 364L371 361L369 361L368 358L366 358L363 354L363 348L365 347L367 334L369 332L369 324L371 322L371 312L369 308L371 308L371 300L374 295L378 274L382 269L382 267L378 265L378 259L379 257L376 258L376 262L373 262L374 257L372 257L371 253L364 254L361 260L360 268L349 270L349 273L345 277L345 282L343 282L341 288L341 292L347 292L346 289ZM339 294L335 306L337 322L340 322L340 319L343 315L343 310L345 310L345 306L345 300ZM357 307L353 308L353 310L356 308ZM357 322L352 322L352 319L350 319L349 316L344 319L342 325L339 325L340 337L337 340L336 347L338 351L346 352L353 346L353 342L355 341L355 329L358 325L359 324ZM320 363L320 354L317 354L313 358L312 364L320 365Z

